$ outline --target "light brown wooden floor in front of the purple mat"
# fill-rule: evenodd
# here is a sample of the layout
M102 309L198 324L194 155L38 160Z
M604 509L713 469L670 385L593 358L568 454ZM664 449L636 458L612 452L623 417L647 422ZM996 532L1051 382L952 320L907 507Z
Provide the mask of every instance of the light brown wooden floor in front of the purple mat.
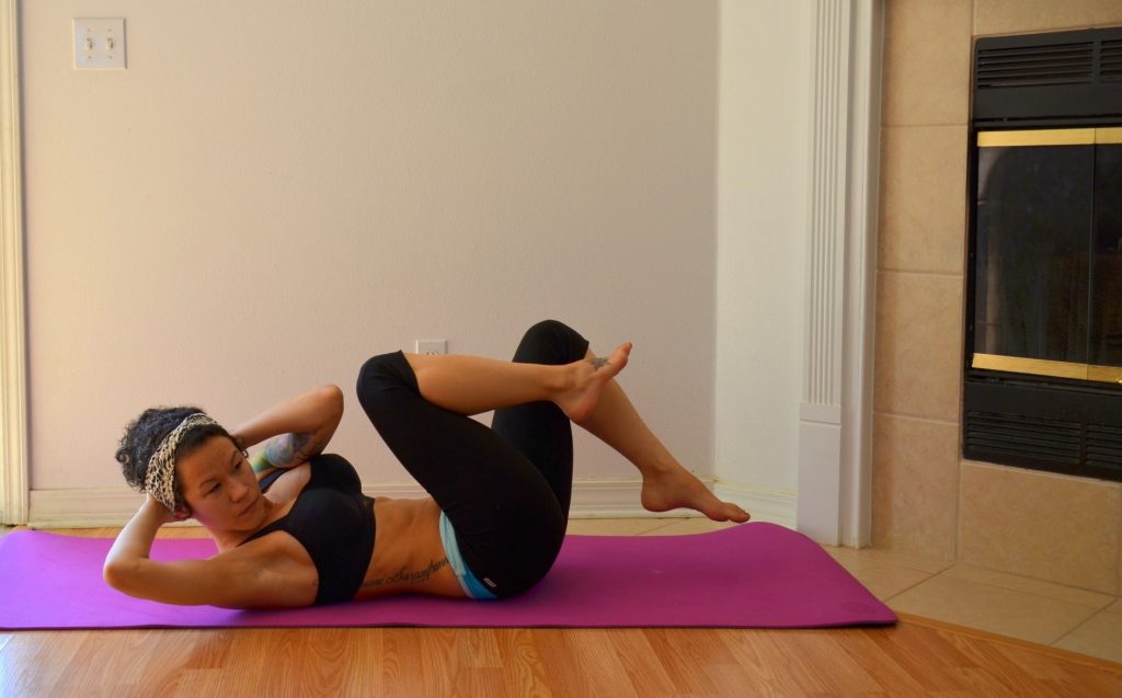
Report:
M838 630L0 634L0 696L1122 696L1122 665L922 618Z

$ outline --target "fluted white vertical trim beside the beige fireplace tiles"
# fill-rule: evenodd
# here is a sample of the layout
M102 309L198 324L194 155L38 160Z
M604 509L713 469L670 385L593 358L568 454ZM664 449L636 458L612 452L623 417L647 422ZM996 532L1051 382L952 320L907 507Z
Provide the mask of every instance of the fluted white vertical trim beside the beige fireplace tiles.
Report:
M816 0L812 10L797 525L853 548L872 533L883 17L884 0Z

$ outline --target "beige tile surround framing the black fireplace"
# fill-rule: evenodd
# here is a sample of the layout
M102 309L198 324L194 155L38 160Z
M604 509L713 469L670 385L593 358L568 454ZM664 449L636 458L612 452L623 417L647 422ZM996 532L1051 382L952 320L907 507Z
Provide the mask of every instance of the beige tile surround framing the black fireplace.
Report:
M1015 585L983 595L975 610L1008 608L1005 632L1038 642L1076 621L1088 636L1116 633L1118 601L1097 608L1031 585L1122 593L1122 484L960 458L971 49L977 36L1119 25L1119 0L885 3L873 544L877 554L928 557L954 571L900 590L912 576L892 569L875 584L921 613L955 606L977 585L994 588L985 575L1005 575L1003 584ZM1030 605L1033 617L1013 617L1038 597L1049 603ZM1085 608L1093 613L1082 617ZM955 613L973 612L964 605ZM1074 648L1082 634L1056 642Z

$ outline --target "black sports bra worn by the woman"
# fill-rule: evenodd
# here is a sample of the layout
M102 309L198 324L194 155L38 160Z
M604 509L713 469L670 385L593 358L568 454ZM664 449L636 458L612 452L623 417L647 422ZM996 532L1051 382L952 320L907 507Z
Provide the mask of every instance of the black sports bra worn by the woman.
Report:
M374 499L362 494L355 467L342 456L321 453L307 462L311 478L292 509L239 545L274 531L288 533L304 547L320 575L315 604L349 601L362 586L374 553ZM261 478L261 492L285 472Z

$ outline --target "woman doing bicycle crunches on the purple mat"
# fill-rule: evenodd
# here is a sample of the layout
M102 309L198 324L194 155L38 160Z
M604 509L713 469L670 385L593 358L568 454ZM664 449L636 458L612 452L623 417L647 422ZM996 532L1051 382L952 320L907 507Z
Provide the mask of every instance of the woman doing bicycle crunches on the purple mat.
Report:
M638 468L645 508L747 521L640 419L613 379L629 352L625 343L596 358L576 331L545 321L511 362L401 351L369 359L359 403L430 495L421 499L371 499L347 460L323 453L342 419L335 386L278 403L231 432L195 407L146 410L128 425L117 460L148 496L109 551L105 580L140 598L228 608L522 594L564 539L571 422ZM490 429L469 416L490 410ZM250 460L246 449L269 439ZM149 559L159 527L190 516L218 554Z

